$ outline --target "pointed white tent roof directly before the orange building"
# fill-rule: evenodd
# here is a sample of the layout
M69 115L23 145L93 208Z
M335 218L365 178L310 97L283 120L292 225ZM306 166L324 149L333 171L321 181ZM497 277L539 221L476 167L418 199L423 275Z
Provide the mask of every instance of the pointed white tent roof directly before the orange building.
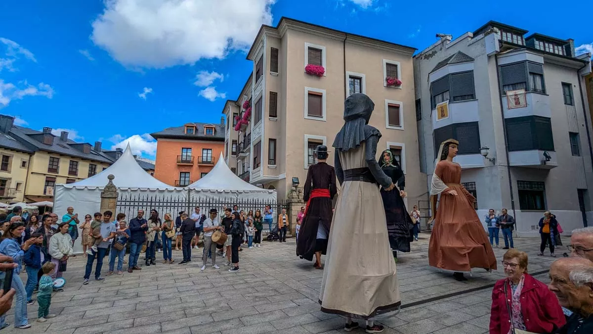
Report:
M267 190L256 187L243 181L228 168L224 157L218 162L205 177L193 182L187 188L195 190L192 198L219 198L224 200L264 200L275 201L276 190Z

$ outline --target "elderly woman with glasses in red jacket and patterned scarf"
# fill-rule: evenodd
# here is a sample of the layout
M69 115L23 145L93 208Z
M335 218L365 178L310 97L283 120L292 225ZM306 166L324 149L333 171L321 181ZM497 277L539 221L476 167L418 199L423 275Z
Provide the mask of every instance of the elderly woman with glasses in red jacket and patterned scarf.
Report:
M502 266L506 278L492 291L490 334L514 333L511 329L551 333L566 323L556 296L527 273L527 253L507 251Z

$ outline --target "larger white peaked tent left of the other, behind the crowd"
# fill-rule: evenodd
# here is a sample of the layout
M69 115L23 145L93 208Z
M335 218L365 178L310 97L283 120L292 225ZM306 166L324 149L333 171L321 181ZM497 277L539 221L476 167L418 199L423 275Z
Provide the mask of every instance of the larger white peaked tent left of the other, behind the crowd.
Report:
M117 187L117 193L133 196L136 200L143 198L167 198L168 200L183 201L187 198L187 191L183 188L172 187L148 174L132 155L130 146L126 147L122 156L113 165L93 177L71 184L57 184L54 191L54 209L61 221L69 206L74 207L78 213L78 219L83 222L84 216L98 212L101 208L101 191L109 179L107 176L113 174L113 184ZM116 215L117 212L114 212ZM115 217L113 217L115 218ZM128 217L127 219L131 219ZM76 241L74 251L82 251L79 241Z

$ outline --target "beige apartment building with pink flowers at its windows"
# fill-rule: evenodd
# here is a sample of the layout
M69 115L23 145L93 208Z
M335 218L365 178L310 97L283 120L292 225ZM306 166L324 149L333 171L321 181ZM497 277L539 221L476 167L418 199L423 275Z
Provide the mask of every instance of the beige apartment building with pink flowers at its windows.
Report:
M375 102L369 124L382 133L377 157L391 149L400 160L410 204L428 198L417 154L414 52L285 17L276 27L262 26L247 55L253 74L223 111L229 166L251 184L286 198L293 178L304 183L315 146L333 151L346 97L365 93Z

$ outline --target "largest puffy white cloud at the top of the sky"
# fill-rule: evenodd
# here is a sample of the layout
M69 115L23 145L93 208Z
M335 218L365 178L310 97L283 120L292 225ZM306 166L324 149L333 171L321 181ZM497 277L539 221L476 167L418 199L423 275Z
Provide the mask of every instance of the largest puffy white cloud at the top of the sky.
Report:
M109 0L92 24L91 39L129 67L224 58L231 50L247 49L260 26L272 23L275 1Z

